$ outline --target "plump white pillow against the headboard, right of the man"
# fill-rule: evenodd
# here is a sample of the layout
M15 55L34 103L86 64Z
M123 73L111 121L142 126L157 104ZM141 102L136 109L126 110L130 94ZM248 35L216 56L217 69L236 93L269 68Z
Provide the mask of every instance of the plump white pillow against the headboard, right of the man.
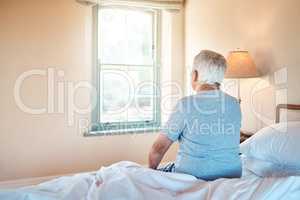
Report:
M241 144L246 168L257 175L285 176L300 173L300 122L274 124Z

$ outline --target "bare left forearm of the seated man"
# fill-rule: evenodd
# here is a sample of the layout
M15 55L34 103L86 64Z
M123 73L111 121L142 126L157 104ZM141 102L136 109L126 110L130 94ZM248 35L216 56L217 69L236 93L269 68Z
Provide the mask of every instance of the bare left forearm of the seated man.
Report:
M164 134L159 134L149 153L149 168L157 169L173 141Z

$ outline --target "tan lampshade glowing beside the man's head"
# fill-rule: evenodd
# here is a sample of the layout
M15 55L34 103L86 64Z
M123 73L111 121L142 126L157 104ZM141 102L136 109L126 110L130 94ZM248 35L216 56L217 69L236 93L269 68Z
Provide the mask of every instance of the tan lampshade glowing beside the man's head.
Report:
M253 78L259 73L248 51L231 51L227 58L225 78Z

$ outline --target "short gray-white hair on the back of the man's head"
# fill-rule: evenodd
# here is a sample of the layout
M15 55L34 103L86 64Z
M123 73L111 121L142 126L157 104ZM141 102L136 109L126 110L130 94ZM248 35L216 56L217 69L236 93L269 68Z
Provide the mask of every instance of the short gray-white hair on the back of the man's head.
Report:
M226 67L224 56L214 51L202 50L194 59L193 70L198 72L199 83L221 84Z

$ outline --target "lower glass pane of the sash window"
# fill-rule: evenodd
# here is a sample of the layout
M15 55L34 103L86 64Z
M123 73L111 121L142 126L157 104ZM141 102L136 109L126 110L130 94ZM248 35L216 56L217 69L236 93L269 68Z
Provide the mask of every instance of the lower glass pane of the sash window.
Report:
M101 67L101 123L151 121L154 116L152 67Z

